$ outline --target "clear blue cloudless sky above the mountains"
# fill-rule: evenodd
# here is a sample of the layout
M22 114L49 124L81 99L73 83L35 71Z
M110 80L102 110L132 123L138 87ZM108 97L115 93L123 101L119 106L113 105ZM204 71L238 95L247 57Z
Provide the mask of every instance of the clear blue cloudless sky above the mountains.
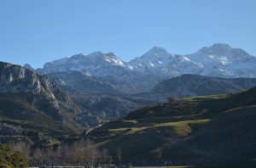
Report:
M76 53L125 61L154 46L194 53L215 42L256 56L255 0L1 0L0 60L42 67Z

